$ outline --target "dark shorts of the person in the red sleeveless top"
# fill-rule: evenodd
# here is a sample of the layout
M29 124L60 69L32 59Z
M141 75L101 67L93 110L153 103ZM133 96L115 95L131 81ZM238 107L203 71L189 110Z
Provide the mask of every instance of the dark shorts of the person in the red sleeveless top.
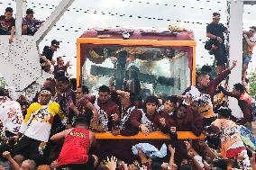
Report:
M70 168L72 170L94 170L94 163L96 159L92 155L89 155L88 162L87 164L69 164L69 165L63 165L63 166L58 166L57 170L65 170L65 168Z

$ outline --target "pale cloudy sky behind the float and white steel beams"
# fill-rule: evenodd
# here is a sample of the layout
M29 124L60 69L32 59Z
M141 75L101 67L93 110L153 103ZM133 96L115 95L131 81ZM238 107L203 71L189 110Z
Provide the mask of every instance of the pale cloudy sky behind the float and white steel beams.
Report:
M45 20L59 2L60 0L27 0L27 8L34 10L35 18ZM15 2L0 0L1 14L5 13L7 6L15 9ZM41 41L40 49L50 45L53 39L60 40L60 49L55 52L54 58L63 56L66 61L69 60L72 64L69 72L76 75L76 40L87 29L115 26L168 29L169 24L172 24L194 31L197 40L197 66L212 65L214 58L204 49L203 43L206 41L206 23L211 22L212 13L218 12L221 13L221 22L225 24L226 7L224 0L75 0L69 11L62 15L56 26ZM255 15L256 5L244 5L244 29L256 25L255 20L253 21ZM256 56L251 60L249 69L254 70Z

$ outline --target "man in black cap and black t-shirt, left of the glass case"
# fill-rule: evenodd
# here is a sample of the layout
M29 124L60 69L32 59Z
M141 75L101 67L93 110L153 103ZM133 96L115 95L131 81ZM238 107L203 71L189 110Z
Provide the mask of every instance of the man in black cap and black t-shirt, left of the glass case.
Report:
M53 54L55 51L59 49L59 41L58 40L51 40L51 45L45 46L43 48L41 58L40 58L40 63L41 63L41 68L49 72L50 71L50 66L55 64L55 61L52 59Z

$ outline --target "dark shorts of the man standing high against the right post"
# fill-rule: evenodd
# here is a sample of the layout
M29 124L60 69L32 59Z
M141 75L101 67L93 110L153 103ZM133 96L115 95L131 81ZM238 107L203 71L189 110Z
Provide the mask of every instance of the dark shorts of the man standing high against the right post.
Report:
M223 43L217 44L215 49L216 66L224 66L227 63L226 49Z

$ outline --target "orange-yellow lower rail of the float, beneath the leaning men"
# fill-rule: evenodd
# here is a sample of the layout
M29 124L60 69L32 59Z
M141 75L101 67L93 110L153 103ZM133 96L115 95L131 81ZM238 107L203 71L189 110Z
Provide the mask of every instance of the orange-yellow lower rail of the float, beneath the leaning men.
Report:
M193 132L191 131L177 131L178 139L197 139L197 140L203 140L205 139L205 135L201 134L199 137L197 137ZM137 135L134 136L114 136L110 131L103 132L103 133L96 133L96 139L170 139L169 135L166 135L160 131L152 131L149 135L144 135L142 132L140 132Z

